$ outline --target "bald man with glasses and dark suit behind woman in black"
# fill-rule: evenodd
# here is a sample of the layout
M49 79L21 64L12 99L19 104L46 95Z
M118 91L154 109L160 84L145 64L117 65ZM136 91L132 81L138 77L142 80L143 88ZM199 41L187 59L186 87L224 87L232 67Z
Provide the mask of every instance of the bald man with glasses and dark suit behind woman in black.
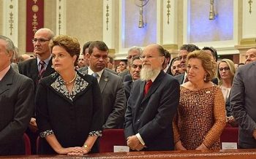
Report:
M34 54L37 58L31 58L28 61L18 63L20 74L31 78L34 81L34 90L37 90L37 85L42 77L47 77L54 72L51 61L50 49L48 47L50 39L54 36L53 31L49 28L40 28L34 34L32 44L34 44ZM32 153L36 153L36 140L38 134L37 123L34 117L31 117L29 129L26 131L31 139Z

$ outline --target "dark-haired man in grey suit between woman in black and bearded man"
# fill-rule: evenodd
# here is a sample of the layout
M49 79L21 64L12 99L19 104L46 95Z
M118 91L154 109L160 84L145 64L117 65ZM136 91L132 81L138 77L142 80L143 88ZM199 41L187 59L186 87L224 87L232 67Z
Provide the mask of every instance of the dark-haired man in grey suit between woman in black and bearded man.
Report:
M121 77L105 69L108 63L108 46L101 41L91 42L86 58L89 67L79 71L96 77L99 82L103 102L103 128L123 128L127 99Z

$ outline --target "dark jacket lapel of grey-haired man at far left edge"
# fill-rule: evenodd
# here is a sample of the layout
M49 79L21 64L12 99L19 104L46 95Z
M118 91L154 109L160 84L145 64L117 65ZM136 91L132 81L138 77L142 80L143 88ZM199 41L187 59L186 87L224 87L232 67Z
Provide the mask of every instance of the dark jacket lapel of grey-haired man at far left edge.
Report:
M10 85L12 85L13 78L13 70L12 67L7 71L7 74L4 75L4 78L0 82L0 95L4 93L6 90L10 89Z

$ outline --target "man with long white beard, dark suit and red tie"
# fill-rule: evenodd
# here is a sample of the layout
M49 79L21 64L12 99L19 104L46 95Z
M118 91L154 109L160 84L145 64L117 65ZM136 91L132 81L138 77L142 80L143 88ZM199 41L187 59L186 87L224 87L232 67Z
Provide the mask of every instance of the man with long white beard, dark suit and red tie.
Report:
M127 145L137 151L174 150L172 120L179 83L162 70L165 50L159 44L145 47L141 60L140 80L132 85L125 113Z

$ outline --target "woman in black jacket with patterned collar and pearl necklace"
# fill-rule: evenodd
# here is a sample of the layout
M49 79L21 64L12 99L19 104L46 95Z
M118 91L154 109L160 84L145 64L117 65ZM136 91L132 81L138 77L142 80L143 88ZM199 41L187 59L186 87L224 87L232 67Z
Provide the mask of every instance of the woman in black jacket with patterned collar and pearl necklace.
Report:
M39 154L97 152L102 135L102 96L97 79L75 70L80 44L71 36L50 41L56 73L39 82L36 95Z

